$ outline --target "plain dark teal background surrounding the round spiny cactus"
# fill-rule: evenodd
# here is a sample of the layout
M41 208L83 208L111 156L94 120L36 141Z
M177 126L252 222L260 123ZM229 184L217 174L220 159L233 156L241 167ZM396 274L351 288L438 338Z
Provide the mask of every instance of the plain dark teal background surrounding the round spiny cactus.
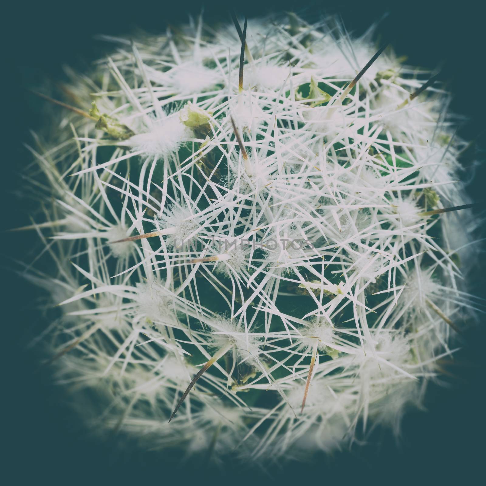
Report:
M451 109L468 117L460 134L477 139L476 158L483 162L469 186L475 201L484 201L485 171L485 47L486 25L483 12L468 2L206 2L205 17L226 18L235 6L241 15L258 15L267 9L302 11L310 19L320 13L340 14L349 30L358 33L383 14L390 15L378 29L392 41L408 63L433 69L442 64L440 78L449 80L454 93ZM43 102L27 93L25 87L41 79L56 79L61 65L86 69L89 61L107 46L93 35L127 34L136 27L150 32L165 30L166 22L185 21L187 12L197 15L196 2L164 1L146 3L110 2L11 3L4 10L1 57L2 69L0 132L2 229L28 224L32 210L18 195L29 191L18 177L30 160L22 142L28 129L43 123ZM5 9L5 6L3 7ZM304 16L306 11L303 12ZM5 63L1 63L5 64ZM1 65L0 64L0 65ZM484 214L476 210L476 214ZM204 464L180 466L168 461L164 452L141 452L128 445L117 449L114 440L100 442L86 434L65 405L62 390L50 383L49 370L37 371L37 356L23 349L29 332L39 319L36 311L38 290L11 271L9 256L21 259L31 246L31 235L6 233L2 245L2 323L0 347L2 386L0 403L3 452L7 468L4 484L160 484L200 485L271 483L308 485L367 484L469 484L484 476L485 454L485 326L472 328L465 336L451 372L453 387L430 390L428 412L411 412L403 421L399 445L389 434L377 433L374 445L316 458L310 465L281 464L270 474L251 469L208 468ZM34 237L34 235L32 235ZM484 252L478 268L484 267ZM485 269L486 270L486 269ZM481 273L478 293L484 296ZM485 279L483 278L483 281ZM482 319L484 321L484 319ZM473 479L476 476L475 479ZM273 478L273 479L272 479Z

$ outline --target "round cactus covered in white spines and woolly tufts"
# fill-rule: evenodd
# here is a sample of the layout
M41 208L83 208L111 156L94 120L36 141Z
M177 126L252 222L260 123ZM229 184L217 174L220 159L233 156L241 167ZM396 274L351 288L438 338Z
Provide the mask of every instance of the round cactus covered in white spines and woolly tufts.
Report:
M397 432L477 307L449 94L373 29L233 20L111 38L44 96L51 260L24 274L57 305L49 364L140 447L276 460Z

